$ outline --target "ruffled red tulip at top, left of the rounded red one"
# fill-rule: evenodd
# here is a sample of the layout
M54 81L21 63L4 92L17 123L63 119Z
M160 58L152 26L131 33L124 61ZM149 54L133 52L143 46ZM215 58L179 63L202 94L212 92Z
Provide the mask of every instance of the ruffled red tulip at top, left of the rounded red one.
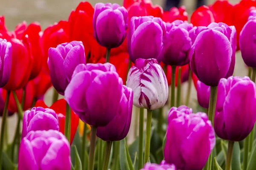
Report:
M188 13L186 12L185 6L180 6L180 8L172 7L170 11L163 12L163 21L166 23L172 23L175 20L188 20Z

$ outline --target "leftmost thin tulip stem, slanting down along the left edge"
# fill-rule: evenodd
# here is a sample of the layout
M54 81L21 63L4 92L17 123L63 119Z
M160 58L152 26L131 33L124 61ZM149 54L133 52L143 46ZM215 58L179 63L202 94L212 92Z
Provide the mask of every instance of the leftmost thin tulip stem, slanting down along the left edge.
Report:
M3 155L3 139L6 128L7 114L8 114L8 103L11 91L7 91L6 101L3 109L2 125L1 125L1 138L0 138L0 170L2 169L2 155Z

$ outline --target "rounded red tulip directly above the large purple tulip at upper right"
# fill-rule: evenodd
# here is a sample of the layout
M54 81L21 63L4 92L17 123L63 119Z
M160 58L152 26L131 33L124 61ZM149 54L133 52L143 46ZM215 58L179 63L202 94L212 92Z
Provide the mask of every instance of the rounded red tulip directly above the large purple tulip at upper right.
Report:
M208 26L212 22L215 22L214 14L208 6L200 6L191 16L191 23L194 26Z

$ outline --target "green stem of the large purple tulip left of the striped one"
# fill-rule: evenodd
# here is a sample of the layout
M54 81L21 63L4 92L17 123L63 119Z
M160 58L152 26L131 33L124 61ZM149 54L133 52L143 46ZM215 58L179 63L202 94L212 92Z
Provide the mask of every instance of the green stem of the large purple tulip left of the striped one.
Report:
M95 157L95 147L96 147L96 132L97 132L97 127L91 126L88 170L93 170L93 168L94 168L94 157Z

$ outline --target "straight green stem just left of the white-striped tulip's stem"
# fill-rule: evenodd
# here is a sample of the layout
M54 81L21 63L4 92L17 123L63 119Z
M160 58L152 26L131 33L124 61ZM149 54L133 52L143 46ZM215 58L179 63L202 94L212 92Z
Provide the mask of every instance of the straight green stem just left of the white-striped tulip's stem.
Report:
M144 127L144 108L140 108L139 122L139 150L138 150L138 169L143 168L143 127Z

